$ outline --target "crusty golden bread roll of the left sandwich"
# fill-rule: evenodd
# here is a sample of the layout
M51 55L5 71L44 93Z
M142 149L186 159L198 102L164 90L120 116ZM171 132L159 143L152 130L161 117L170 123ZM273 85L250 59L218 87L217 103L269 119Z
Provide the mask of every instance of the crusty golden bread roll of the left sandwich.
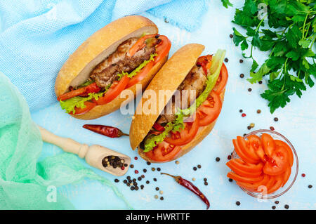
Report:
M139 38L144 33L157 34L158 28L154 22L140 15L130 15L120 18L95 32L62 65L55 81L55 94L57 97L66 93L70 86L77 87L83 84L88 79L94 67L114 53L119 44L133 37ZM140 81L144 89L160 67L164 65L167 58L168 55L166 55L164 60L154 65L152 70L148 72L147 77ZM136 85L128 89L136 95ZM78 119L96 119L119 109L121 103L126 98L117 96L112 102L105 105L97 105L85 114L70 115Z

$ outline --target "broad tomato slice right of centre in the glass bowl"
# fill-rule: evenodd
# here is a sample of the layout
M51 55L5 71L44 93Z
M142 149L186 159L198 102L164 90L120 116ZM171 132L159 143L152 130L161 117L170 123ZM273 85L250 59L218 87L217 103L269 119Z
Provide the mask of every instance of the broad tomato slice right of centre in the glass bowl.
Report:
M278 146L263 166L263 172L271 176L277 176L284 173L287 166L289 166L287 150L282 146Z

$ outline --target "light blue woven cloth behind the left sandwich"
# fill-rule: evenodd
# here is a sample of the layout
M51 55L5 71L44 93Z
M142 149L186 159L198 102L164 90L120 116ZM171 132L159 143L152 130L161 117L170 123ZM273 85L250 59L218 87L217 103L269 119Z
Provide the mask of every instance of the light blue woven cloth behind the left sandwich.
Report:
M55 103L55 77L91 34L124 15L147 11L189 31L206 11L203 0L0 1L0 71L31 111Z

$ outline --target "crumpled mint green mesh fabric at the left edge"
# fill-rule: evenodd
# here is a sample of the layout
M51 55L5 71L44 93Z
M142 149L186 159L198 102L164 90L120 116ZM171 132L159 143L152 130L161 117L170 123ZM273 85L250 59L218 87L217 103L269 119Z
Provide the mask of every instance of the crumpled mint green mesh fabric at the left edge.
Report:
M126 202L110 180L87 169L73 154L62 153L38 162L42 145L25 98L0 73L0 209L74 209L61 194L57 202L49 202L47 187L79 183L84 178L112 187ZM128 202L126 205L131 209Z

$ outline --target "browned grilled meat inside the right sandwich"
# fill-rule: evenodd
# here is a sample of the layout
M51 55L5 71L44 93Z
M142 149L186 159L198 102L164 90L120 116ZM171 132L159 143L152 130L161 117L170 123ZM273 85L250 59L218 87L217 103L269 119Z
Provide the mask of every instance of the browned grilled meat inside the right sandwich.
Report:
M192 70L187 74L177 89L178 91L176 94L180 94L180 102L176 104L176 95L173 95L166 107L164 107L162 114L159 115L157 123L164 124L176 119L175 114L179 105L181 109L190 107L190 105L195 102L196 98L204 91L206 81L207 78L202 67L198 67L197 65L192 67ZM185 102L185 99L187 99L187 102ZM182 104L182 102L184 104Z

